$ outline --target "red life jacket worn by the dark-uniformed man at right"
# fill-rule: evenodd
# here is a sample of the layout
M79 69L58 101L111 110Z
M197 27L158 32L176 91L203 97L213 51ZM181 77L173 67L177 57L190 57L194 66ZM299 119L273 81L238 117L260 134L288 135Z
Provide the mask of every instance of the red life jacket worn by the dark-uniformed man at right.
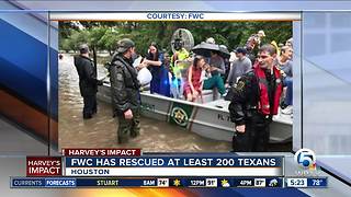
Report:
M253 66L253 72L259 79L259 88L260 88L260 102L259 102L259 111L263 115L270 115L271 114L271 106L270 106L270 100L268 95L268 81L265 79L264 70L260 68L260 66L257 63ZM275 77L275 91L274 91L274 101L273 101L273 111L272 115L278 114L278 108L280 104L280 99L283 90L283 82L280 71L276 69L275 66L273 66L273 72Z

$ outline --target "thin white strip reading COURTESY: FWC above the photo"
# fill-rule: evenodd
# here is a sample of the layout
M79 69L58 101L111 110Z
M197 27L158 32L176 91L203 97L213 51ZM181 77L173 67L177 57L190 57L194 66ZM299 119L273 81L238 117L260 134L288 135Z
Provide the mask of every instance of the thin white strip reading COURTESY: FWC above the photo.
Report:
M299 21L297 12L207 13L207 12L53 12L53 21Z

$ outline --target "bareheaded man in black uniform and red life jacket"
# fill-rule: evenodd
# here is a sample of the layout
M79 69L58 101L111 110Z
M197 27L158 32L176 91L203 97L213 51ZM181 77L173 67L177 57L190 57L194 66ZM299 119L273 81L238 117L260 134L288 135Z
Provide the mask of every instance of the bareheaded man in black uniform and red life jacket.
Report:
M268 150L269 126L272 116L278 114L283 89L282 76L274 65L275 56L273 45L261 46L253 70L233 88L229 113L235 123L234 151Z

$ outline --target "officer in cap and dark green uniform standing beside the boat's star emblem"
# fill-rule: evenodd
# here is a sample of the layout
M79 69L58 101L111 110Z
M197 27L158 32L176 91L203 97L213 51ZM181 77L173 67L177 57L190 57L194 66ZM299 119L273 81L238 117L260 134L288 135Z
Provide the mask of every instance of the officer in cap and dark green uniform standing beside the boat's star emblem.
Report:
M117 42L110 67L113 115L118 119L118 143L128 142L140 131L140 83L133 67L135 44L128 38Z

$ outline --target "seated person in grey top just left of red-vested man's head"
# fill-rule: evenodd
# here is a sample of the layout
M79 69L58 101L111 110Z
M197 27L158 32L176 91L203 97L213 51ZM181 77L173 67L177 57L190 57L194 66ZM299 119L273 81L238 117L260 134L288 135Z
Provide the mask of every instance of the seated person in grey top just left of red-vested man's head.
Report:
M247 50L244 47L238 47L235 50L237 59L233 61L230 71L227 78L226 86L231 86L238 79L252 69L252 63L248 57L246 57Z

